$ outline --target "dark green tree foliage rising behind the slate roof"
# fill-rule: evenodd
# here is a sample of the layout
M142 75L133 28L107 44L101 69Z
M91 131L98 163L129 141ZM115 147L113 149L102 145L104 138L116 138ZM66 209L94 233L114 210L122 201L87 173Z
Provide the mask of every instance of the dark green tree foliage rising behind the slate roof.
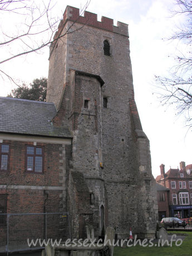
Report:
M15 88L11 91L7 97L13 97L25 100L46 101L47 93L47 78L42 77L40 79L33 80L32 83L27 86L25 83L21 87Z

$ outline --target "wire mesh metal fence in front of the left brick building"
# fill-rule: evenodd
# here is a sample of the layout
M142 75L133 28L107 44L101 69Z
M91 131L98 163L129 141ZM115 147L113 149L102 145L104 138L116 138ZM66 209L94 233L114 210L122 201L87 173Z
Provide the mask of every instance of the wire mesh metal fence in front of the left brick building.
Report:
M68 213L0 214L0 220L0 253L7 255L71 238Z

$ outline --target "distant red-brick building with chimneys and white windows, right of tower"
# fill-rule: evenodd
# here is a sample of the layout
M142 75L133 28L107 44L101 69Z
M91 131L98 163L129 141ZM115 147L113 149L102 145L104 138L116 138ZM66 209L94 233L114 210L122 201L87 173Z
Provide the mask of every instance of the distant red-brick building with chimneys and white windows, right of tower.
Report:
M170 216L189 218L192 216L192 165L185 166L180 163L179 169L169 169L165 173L165 165L160 165L161 175L156 177L156 182L169 188Z

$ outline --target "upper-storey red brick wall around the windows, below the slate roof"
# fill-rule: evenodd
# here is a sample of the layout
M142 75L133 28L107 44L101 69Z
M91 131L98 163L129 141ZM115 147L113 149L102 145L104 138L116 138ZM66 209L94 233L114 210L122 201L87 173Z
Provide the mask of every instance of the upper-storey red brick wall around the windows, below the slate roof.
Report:
M8 172L0 172L0 184L4 185L32 185L32 186L58 186L58 170L60 160L60 147L56 144L37 143L37 146L44 146L45 161L43 174L29 174L26 172L26 145L33 145L33 142L9 141L10 144L10 165Z

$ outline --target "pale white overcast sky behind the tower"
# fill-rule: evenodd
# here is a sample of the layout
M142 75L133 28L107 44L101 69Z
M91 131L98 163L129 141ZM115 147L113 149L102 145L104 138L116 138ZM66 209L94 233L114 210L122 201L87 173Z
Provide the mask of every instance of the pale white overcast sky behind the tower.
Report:
M39 3L43 1L38 1ZM48 0L44 1L45 3ZM85 1L52 0L52 17L62 17L67 5L81 8ZM180 161L192 164L191 130L186 127L183 116L176 116L174 106L161 106L156 95L155 75L166 76L174 65L173 56L185 46L181 42L171 42L166 38L184 22L183 17L173 16L170 11L175 8L174 0L91 0L87 11L129 24L130 55L134 78L135 100L139 111L142 128L150 140L152 174L160 174L159 166L165 164L165 171L178 168ZM19 17L11 19L8 14L0 17L3 30L19 29ZM5 33L5 32L4 32ZM12 54L17 45L2 51L1 58ZM30 53L8 61L3 65L19 84L32 82L35 78L48 76L48 47L40 53ZM7 94L16 85L0 77L0 96Z

